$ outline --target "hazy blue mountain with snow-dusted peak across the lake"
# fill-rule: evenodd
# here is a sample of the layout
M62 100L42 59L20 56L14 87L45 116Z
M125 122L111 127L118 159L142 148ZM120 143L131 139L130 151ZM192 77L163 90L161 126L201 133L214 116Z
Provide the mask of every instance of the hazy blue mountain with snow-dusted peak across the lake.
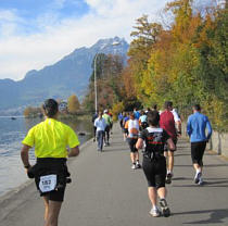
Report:
M115 45L118 43L118 45ZM29 71L22 80L0 79L0 110L38 105L47 98L81 99L92 73L97 53L119 54L126 60L129 45L118 37L100 39L90 48L79 48L53 65Z

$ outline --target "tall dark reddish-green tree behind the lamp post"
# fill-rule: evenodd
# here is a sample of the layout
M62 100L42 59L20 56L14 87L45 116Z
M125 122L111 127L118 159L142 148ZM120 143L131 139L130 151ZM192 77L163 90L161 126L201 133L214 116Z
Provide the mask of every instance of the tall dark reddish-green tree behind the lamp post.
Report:
M114 102L122 100L123 84L121 81L121 73L124 62L119 55L105 55L99 53L97 60L97 93L99 109L112 108ZM93 61L94 64L94 61ZM94 111L94 65L90 76L90 83L87 96L84 99L84 106L89 111Z

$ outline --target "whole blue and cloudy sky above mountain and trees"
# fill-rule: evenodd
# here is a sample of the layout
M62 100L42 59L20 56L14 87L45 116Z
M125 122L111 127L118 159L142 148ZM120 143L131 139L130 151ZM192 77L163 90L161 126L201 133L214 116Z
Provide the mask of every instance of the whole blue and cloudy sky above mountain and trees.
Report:
M208 1L208 0L198 0ZM22 79L100 38L130 41L136 18L161 21L168 0L0 0L0 79Z

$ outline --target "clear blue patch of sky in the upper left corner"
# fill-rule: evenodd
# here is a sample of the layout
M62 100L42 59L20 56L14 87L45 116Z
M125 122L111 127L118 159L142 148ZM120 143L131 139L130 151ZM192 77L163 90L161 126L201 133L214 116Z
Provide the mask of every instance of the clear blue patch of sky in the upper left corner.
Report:
M10 24L13 20L17 34L29 35L42 33L47 26L53 26L64 18L79 18L88 13L89 5L83 0L1 0L2 11L14 17L5 16L0 24Z

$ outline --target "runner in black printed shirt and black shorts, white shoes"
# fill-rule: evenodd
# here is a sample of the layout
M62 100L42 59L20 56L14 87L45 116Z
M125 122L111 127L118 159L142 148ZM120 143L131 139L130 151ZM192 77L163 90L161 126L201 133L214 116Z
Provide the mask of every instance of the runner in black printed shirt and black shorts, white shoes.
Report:
M167 217L170 215L170 211L166 201L164 145L167 141L169 150L175 150L175 145L169 135L159 127L159 122L160 114L157 112L152 111L148 113L150 126L140 133L136 148L141 149L143 142L145 142L142 170L148 180L148 196L152 204L150 214L154 217L161 215L156 204L159 196L162 214Z

